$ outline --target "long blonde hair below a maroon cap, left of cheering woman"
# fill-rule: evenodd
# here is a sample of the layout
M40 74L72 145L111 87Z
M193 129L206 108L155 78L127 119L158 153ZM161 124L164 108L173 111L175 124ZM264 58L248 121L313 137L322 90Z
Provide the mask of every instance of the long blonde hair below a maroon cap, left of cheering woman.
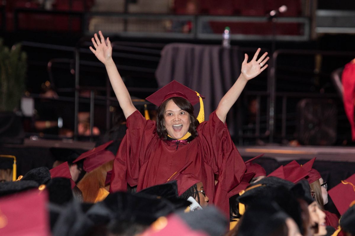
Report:
M99 194L99 189L105 187L107 172L112 169L113 160L104 163L91 172L87 172L77 184L83 193L84 202L94 203Z

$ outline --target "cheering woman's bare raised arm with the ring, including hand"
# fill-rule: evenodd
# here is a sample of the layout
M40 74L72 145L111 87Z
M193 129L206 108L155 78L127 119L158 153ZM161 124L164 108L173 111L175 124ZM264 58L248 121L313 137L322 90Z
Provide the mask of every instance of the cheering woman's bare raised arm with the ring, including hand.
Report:
M235 81L234 85L228 90L228 92L223 96L220 100L216 115L218 118L224 123L225 118L227 116L228 111L233 106L235 101L239 98L240 93L243 91L248 80L253 79L257 75L259 75L263 70L267 68L268 65L265 63L268 61L269 57L265 58L267 52L264 53L258 60L257 57L260 52L260 48L254 54L253 59L248 63L248 55L244 55L244 61L242 62L241 73Z

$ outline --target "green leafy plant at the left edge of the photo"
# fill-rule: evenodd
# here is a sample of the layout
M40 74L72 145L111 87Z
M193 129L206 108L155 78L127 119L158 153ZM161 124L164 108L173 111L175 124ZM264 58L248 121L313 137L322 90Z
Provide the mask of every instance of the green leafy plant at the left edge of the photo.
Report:
M0 111L13 111L20 105L25 90L27 55L21 44L9 50L0 39Z

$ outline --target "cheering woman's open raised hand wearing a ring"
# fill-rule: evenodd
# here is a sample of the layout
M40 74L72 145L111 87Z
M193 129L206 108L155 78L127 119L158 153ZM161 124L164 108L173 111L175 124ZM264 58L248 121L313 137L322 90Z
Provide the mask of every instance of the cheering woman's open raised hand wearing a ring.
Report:
M269 57L265 58L267 55L267 52L265 52L258 60L256 60L259 55L260 50L261 50L260 48L258 48L258 50L256 50L256 53L254 54L253 59L249 63L247 62L248 55L245 54L245 56L244 56L241 74L247 80L251 80L254 77L258 76L263 70L265 70L268 67L266 62L269 60Z

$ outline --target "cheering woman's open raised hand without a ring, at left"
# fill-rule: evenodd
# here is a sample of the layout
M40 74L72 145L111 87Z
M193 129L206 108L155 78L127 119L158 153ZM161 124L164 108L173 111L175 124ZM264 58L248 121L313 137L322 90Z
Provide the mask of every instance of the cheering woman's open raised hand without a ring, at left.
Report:
M112 59L112 47L109 38L105 41L102 32L99 31L100 39L98 38L97 34L94 34L94 38L91 38L92 44L94 45L95 49L90 46L90 50L95 54L97 59L100 62L106 63L110 59Z

